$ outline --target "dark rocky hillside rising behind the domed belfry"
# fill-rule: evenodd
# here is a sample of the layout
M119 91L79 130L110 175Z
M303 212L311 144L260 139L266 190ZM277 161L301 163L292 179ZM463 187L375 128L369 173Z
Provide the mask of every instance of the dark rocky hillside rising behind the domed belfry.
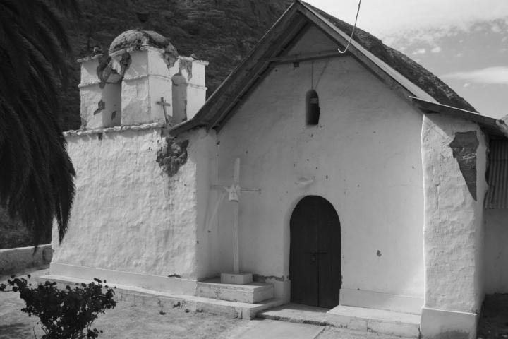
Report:
M83 18L68 21L73 46L71 86L63 93L62 129L80 127L78 57L96 46L106 51L125 30L155 30L169 37L181 55L210 61L207 95L228 76L291 0L80 0Z

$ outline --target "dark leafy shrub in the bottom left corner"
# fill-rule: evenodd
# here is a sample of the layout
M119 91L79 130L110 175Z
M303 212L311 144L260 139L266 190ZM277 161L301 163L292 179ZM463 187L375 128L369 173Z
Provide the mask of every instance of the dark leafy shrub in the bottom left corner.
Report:
M106 280L94 280L59 290L56 283L46 281L31 287L25 278L12 275L7 284L0 284L0 291L20 293L26 305L21 311L40 319L38 323L45 333L42 339L97 338L102 331L92 328L92 322L99 313L113 309L116 301L114 290L102 285Z

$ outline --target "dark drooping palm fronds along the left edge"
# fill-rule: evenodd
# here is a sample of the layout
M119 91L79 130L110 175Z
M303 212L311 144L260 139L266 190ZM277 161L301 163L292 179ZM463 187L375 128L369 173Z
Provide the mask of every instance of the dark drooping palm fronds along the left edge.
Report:
M68 227L75 171L59 126L60 86L71 54L59 13L75 0L0 0L0 205L32 232L35 246Z

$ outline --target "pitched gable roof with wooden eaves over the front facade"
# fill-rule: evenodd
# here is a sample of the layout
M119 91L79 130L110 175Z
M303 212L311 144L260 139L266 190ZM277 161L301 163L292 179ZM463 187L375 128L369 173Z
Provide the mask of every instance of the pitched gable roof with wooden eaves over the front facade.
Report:
M236 69L208 98L192 119L174 126L170 133L178 135L205 126L221 129L234 113L236 105L265 76L274 62L284 59L284 52L309 25L316 25L338 45L345 46L353 26L319 9L295 0ZM339 57L328 52L321 57ZM367 69L397 90L406 100L417 97L427 102L449 105L467 111L475 109L439 78L401 52L387 47L373 35L356 28L346 55L354 57ZM303 56L301 56L303 57ZM308 56L311 58L312 56ZM314 56L316 57L316 56ZM287 58L286 58L287 59ZM287 60L286 60L287 61Z

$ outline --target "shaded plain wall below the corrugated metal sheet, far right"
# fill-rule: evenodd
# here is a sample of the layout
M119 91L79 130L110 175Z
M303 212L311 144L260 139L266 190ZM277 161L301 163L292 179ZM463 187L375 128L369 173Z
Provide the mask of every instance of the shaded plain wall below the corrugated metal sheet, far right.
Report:
M508 210L485 210L485 293L508 293Z

